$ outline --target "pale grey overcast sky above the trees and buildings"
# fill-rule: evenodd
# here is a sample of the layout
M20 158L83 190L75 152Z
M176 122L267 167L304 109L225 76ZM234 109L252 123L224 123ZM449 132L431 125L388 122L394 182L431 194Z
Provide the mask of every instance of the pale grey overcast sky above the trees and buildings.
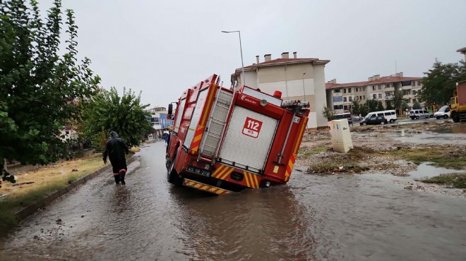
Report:
M40 0L44 10L51 0ZM167 107L213 73L229 75L256 55L328 59L325 81L366 80L402 71L419 76L434 59L458 62L466 47L466 1L150 1L63 0L75 11L80 58L103 87L142 91Z

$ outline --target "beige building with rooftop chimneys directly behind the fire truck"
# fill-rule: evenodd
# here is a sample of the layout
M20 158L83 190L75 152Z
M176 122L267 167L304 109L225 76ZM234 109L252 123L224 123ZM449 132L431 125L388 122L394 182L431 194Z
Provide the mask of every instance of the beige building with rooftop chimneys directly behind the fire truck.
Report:
M289 58L283 52L279 59L272 59L271 54L264 55L264 61L256 56L256 63L237 68L232 74L232 88L243 85L259 88L262 92L273 95L275 90L282 92L282 99L299 99L310 103L311 113L307 128L327 128L327 119L321 113L325 104L325 64L329 60L318 58Z

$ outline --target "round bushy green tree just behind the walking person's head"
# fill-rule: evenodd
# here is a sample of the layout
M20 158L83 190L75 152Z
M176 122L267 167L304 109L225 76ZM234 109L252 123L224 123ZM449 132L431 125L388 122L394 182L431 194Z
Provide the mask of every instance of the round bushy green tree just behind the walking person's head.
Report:
M126 92L124 88L122 97L114 87L102 89L92 99L80 102L79 136L90 140L97 151L103 150L110 130L116 131L127 145L139 145L141 138L153 130L148 113L143 111L148 106L141 104L141 93L136 96L131 89Z

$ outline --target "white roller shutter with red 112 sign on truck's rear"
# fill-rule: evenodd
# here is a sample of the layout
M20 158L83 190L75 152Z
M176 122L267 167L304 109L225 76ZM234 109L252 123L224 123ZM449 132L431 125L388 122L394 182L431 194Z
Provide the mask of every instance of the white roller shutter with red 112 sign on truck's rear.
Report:
M248 126L249 123L258 126ZM277 130L276 119L243 107L234 107L219 157L222 162L249 166L250 171L261 171L267 160ZM259 126L260 125L260 126ZM249 133L252 128L252 134ZM246 133L246 134L245 134ZM256 136L256 137L255 137Z

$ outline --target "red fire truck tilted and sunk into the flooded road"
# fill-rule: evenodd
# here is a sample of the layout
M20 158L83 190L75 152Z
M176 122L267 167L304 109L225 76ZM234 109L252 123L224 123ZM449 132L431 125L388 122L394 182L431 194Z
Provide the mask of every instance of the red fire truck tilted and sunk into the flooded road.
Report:
M233 91L219 82L214 74L179 98L167 145L167 180L215 194L287 183L309 102L247 86Z

